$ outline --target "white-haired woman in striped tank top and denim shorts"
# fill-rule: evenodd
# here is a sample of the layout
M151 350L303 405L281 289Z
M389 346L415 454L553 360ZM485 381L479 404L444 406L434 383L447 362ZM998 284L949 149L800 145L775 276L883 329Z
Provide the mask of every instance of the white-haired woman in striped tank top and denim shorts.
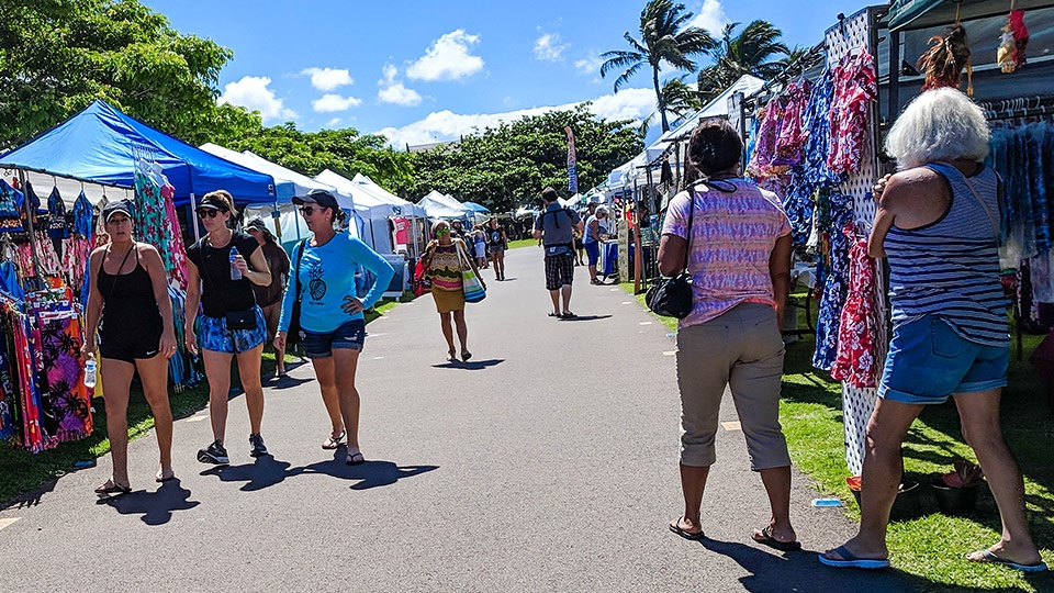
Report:
M867 424L860 533L820 561L889 566L886 524L901 441L926 405L952 396L1002 519L1002 538L966 558L1046 570L1029 534L1021 471L999 428L1010 337L997 253L1001 181L984 164L984 113L957 90L924 92L894 124L886 152L900 170L875 188L867 250L889 264L893 340Z

